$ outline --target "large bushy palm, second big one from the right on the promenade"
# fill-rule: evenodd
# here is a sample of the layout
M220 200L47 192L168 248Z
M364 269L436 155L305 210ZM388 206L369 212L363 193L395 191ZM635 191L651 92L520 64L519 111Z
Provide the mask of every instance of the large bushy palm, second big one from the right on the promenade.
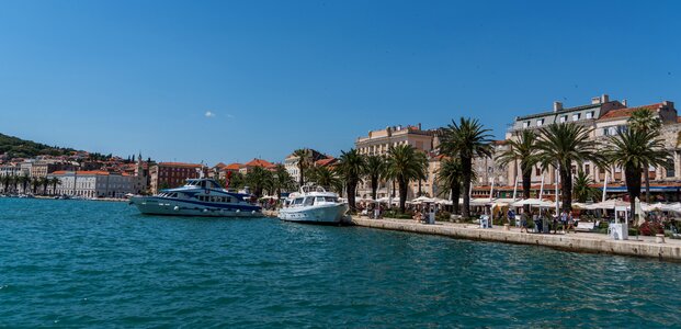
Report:
M603 163L598 144L589 137L590 129L575 123L551 124L540 131L537 159L543 170L557 168L560 177L563 211L572 208L572 163Z

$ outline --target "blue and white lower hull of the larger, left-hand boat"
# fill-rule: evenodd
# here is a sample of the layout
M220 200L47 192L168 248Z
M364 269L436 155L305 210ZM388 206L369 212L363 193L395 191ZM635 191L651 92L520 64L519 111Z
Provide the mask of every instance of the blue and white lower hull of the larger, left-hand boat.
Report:
M262 217L259 206L182 201L157 196L133 196L130 204L146 215L201 217Z

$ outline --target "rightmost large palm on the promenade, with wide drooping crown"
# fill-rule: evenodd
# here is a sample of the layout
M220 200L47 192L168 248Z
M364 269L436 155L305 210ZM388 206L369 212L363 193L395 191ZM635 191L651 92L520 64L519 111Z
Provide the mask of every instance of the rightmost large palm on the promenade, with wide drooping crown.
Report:
M605 155L613 164L624 169L632 217L636 215L636 197L640 195L640 175L645 166L663 166L670 160L665 143L655 132L628 129L611 136ZM647 170L647 168L645 168Z

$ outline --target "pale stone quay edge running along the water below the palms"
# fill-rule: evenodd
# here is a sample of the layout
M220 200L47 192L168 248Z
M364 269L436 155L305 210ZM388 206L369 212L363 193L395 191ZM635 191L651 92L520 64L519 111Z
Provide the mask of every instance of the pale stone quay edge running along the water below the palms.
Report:
M657 243L655 237L629 237L629 240L612 240L606 235L577 234L526 234L518 228L504 230L503 227L479 228L474 224L436 223L434 225L415 223L410 219L367 219L352 218L352 224L364 227L440 235L468 240L485 240L518 245L533 245L575 252L611 253L622 256L657 258L681 261L681 240L667 239Z

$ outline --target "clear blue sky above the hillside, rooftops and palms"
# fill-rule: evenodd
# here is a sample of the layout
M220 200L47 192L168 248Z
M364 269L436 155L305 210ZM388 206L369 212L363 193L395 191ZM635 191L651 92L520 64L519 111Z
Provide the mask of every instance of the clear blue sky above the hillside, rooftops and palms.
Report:
M214 164L462 115L502 138L601 93L681 104L678 2L553 2L0 1L0 133Z

